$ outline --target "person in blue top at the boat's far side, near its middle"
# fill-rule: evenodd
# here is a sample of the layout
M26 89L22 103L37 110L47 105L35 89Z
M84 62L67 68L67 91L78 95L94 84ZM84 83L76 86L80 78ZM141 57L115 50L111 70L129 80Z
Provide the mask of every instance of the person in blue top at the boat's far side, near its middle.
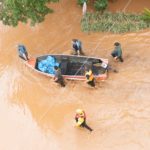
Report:
M82 52L82 43L78 39L72 39L72 48L75 55L81 55Z

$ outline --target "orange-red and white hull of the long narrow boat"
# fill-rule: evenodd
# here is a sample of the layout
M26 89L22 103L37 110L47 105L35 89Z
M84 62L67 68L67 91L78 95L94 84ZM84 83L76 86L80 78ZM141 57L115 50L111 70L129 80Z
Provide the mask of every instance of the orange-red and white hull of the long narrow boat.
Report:
M60 63L62 63L62 59L69 59L69 60L73 60L75 63L76 61L80 61L81 60L81 63L80 63L80 68L78 70L81 71L82 69L82 66L86 65L87 62L91 63L92 61L97 61L97 60L101 60L102 62L104 62L106 65L108 65L108 59L103 59L103 58L97 58L97 57L87 57L87 56L74 56L74 55L42 55L42 56L38 56L38 57L30 57L30 59L28 61L25 61L23 59L22 62L28 67L30 68L31 70L33 70L34 72L37 72L38 74L42 75L42 76L45 76L45 77L49 77L49 78L53 78L54 75L53 74L48 74L48 73L45 73L45 72L42 72L40 70L38 70L36 68L36 65L37 65L37 60L44 60L47 56L52 56L52 57L55 57ZM60 60L61 59L61 60ZM89 60L92 60L92 61L89 61ZM71 64L71 63L70 63ZM72 67L71 67L72 69ZM76 70L75 74L62 74L62 76L64 77L64 79L67 79L67 80L86 80L85 78L85 74L79 74L78 70ZM97 70L96 70L97 71ZM101 74L97 74L95 75L94 74L94 77L96 80L106 80L107 79L107 68L104 70L103 73Z

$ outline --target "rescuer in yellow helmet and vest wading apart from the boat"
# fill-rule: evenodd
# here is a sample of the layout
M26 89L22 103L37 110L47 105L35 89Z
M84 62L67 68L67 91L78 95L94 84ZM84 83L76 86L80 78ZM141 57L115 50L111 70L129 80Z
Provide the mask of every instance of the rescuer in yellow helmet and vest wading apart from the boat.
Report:
M93 129L86 124L86 114L82 109L76 110L75 121L77 127L83 127L87 128L89 131L93 131Z

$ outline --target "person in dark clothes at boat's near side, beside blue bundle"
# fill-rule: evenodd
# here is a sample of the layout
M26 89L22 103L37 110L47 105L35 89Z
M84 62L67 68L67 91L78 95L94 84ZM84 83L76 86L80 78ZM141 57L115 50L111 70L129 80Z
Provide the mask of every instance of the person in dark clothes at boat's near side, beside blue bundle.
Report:
M59 83L61 87L65 87L64 79L63 79L60 69L57 66L54 66L54 69L55 69L54 81L56 83Z

